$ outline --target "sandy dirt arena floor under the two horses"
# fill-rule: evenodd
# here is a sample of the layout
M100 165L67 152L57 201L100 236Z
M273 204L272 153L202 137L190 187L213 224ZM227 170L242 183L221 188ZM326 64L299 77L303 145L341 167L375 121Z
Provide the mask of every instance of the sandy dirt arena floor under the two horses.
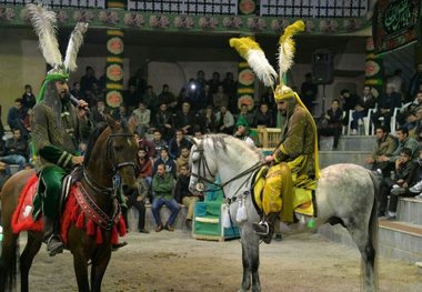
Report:
M113 252L103 291L238 291L241 245L199 241L185 231L129 233L127 246ZM422 269L380 259L380 291L422 291ZM319 234L284 236L261 245L262 291L360 291L358 250L332 243ZM77 291L69 251L37 255L31 291Z

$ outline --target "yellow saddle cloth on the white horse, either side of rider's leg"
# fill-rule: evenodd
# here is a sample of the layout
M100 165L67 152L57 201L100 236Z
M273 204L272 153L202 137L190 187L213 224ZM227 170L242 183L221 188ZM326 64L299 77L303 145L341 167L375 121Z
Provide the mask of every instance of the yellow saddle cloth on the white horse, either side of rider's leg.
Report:
M259 210L262 210L262 198L265 187L267 172L268 167L262 167L254 175L254 180L252 182L253 199ZM293 211L302 215L314 217L315 213L312 195L316 189L316 182L305 178L305 175L297 178L297 174L293 174L292 179L294 182L294 197L292 200Z

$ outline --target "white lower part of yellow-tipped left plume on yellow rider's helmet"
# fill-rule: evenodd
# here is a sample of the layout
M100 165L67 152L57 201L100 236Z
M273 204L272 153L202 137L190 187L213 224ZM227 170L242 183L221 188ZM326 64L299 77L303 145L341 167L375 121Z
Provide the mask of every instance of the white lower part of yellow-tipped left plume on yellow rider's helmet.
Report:
M261 80L265 87L273 87L278 74L267 60L264 52L261 50L250 50L247 59L258 79Z

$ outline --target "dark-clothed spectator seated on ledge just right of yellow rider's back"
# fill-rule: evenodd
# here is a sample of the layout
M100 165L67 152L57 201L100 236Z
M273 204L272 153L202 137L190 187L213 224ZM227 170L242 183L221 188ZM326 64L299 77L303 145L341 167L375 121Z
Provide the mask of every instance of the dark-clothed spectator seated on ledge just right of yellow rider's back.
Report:
M333 135L334 144L333 150L336 150L339 145L340 134L343 128L342 123L343 110L339 108L339 100L333 99L331 101L331 109L329 109L320 121L318 129L318 135ZM320 140L320 138L318 138Z

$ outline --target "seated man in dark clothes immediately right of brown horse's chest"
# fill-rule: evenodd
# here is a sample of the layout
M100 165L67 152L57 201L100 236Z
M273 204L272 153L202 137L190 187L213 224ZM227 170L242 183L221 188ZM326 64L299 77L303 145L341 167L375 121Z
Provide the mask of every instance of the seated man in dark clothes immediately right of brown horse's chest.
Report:
M137 180L137 189L131 190L130 193L125 193L125 204L128 208L124 208L122 211L124 223L127 225L127 229L129 230L129 221L128 221L128 211L131 207L134 207L139 214L138 214L138 231L140 233L150 233L145 229L145 199L148 197L148 185L143 178L138 178Z

